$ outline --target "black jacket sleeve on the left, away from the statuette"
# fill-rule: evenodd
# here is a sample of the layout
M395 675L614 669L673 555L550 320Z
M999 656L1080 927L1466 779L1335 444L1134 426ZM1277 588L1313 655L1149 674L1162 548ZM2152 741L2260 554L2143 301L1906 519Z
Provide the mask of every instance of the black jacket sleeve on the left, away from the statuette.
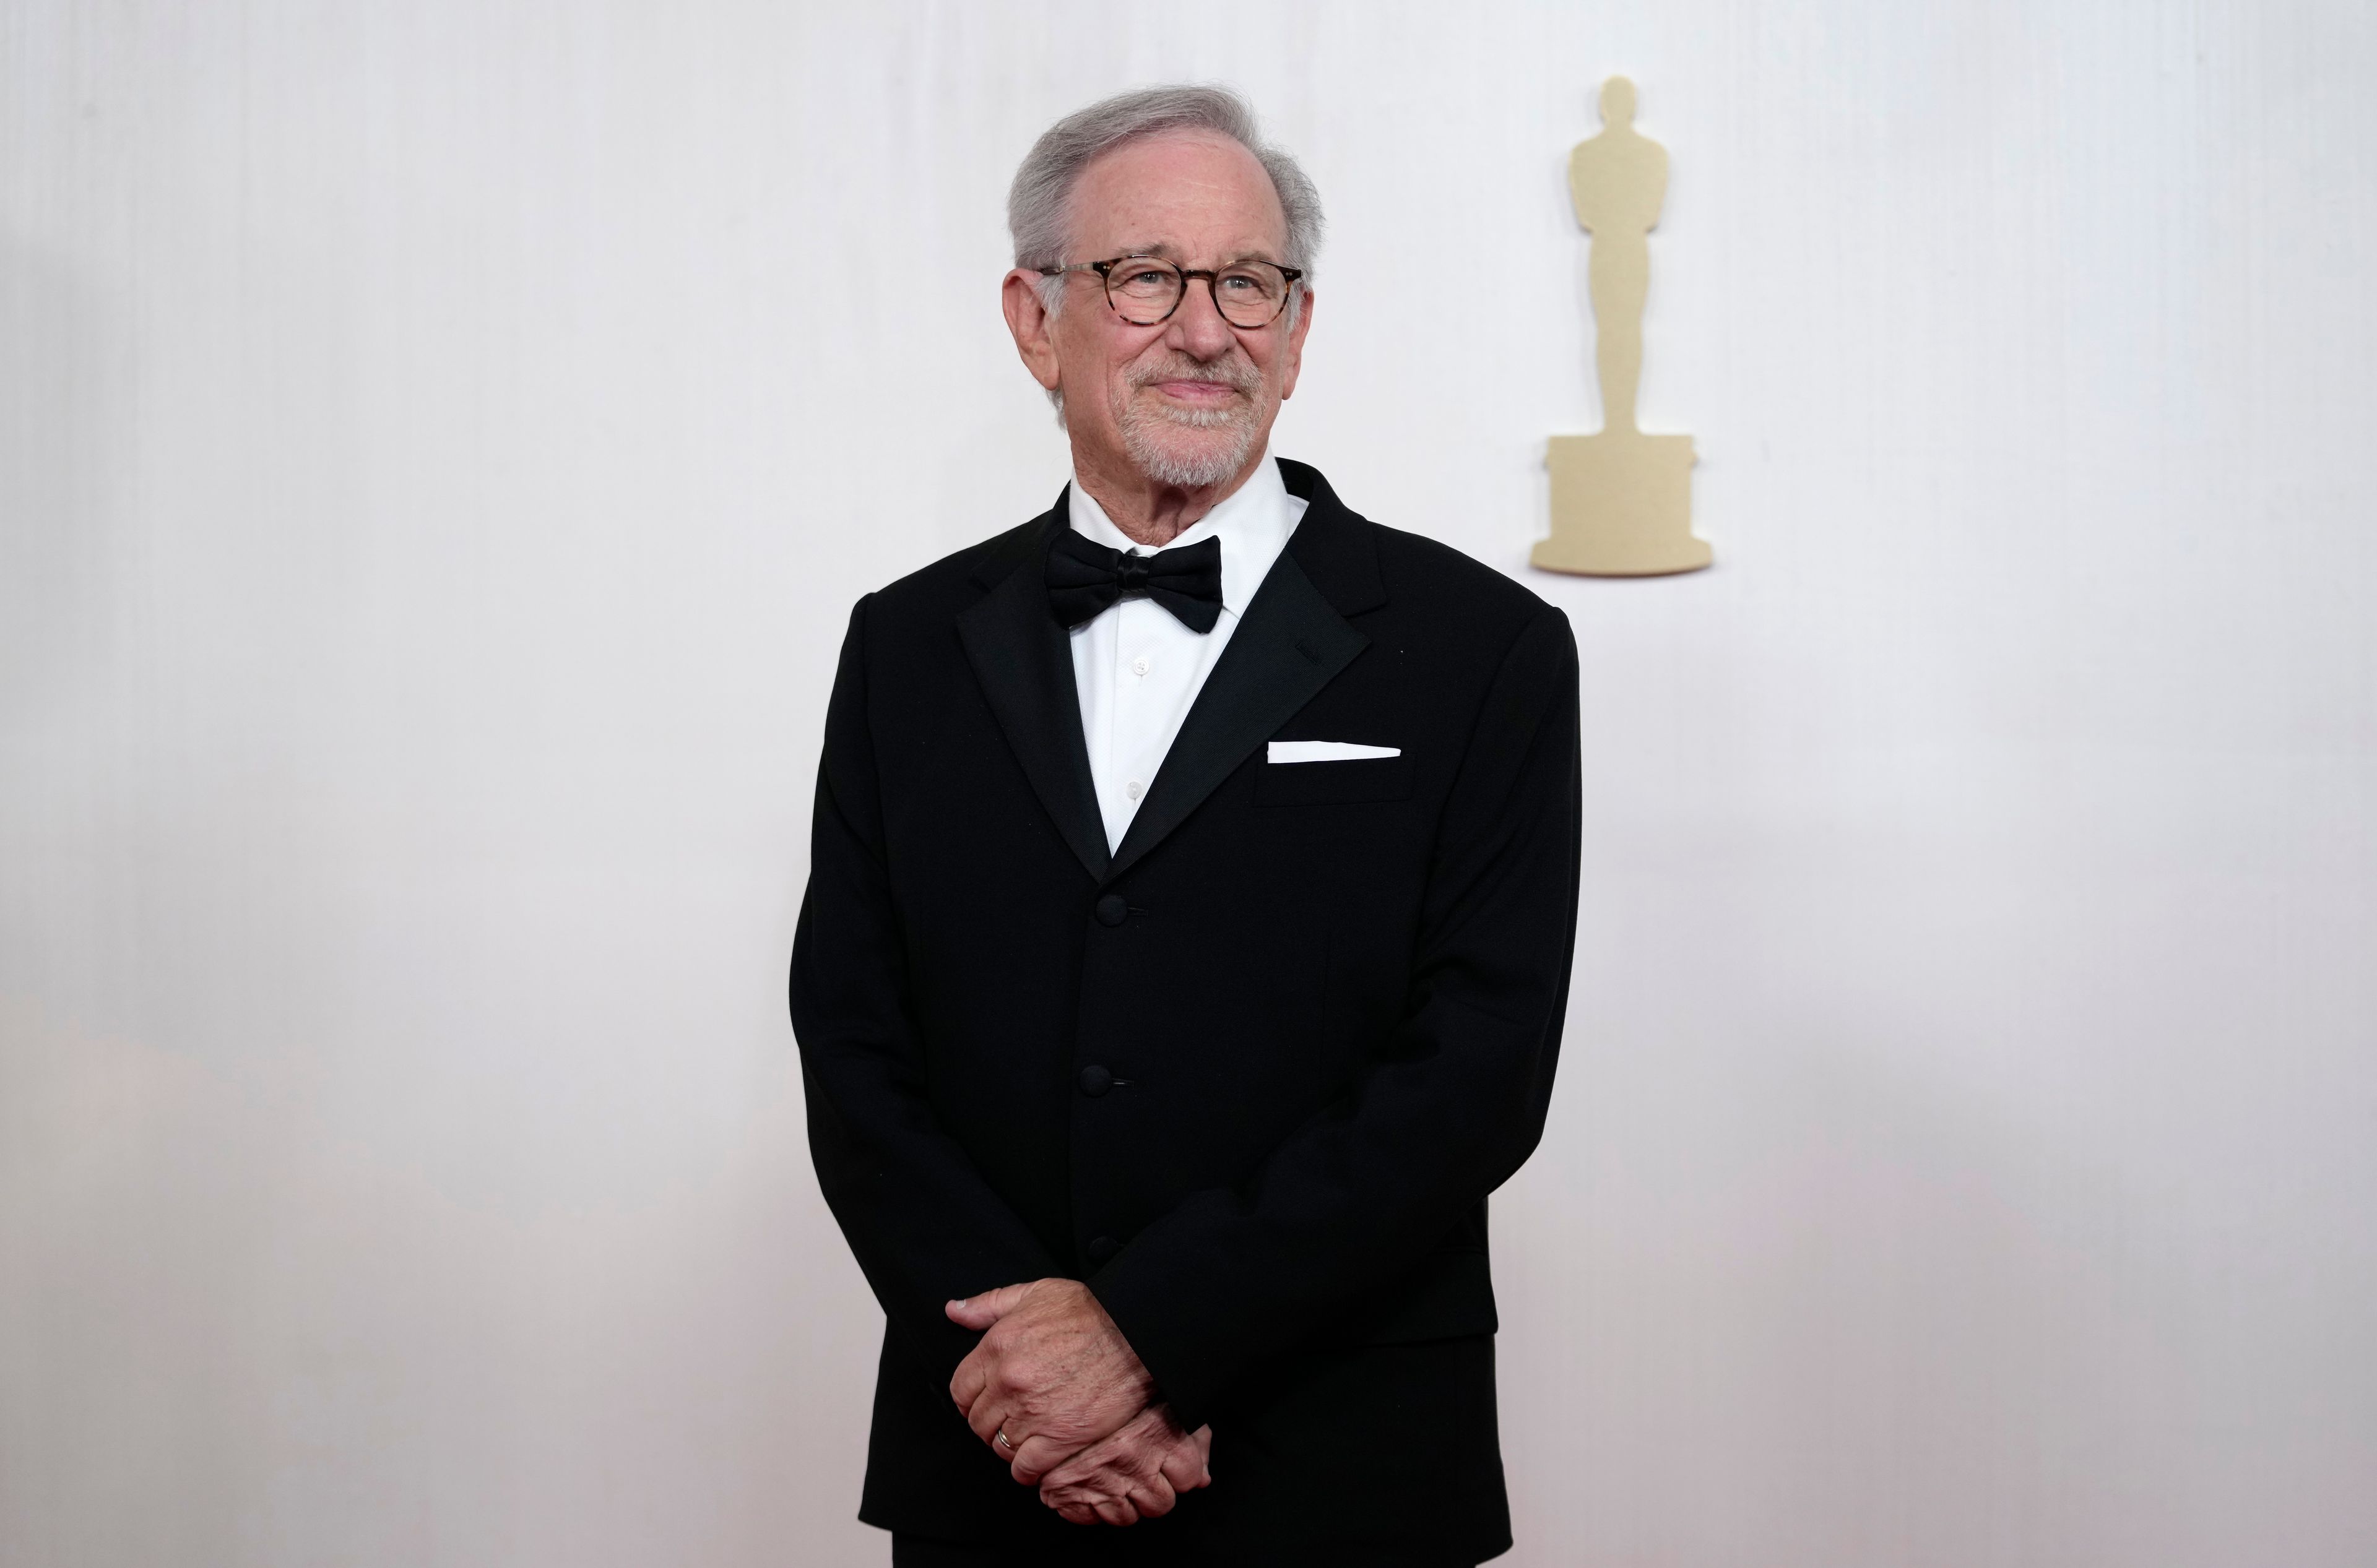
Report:
M884 862L868 725L868 601L851 613L825 713L808 893L792 943L808 1152L894 1338L948 1378L977 1338L941 1316L951 1297L1058 1273L925 1095L906 943Z

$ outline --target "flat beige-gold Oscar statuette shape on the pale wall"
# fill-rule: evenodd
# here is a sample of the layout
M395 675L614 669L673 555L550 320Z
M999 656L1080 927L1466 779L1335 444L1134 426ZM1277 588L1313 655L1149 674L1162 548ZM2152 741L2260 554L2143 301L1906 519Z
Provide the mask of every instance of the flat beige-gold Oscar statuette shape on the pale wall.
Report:
M1602 428L1555 435L1552 537L1533 563L1590 577L1657 577L1709 563L1692 537L1692 437L1635 428L1643 382L1643 299L1650 292L1650 230L1666 202L1666 147L1633 128L1635 90L1623 76L1602 83L1602 131L1569 154L1569 197L1593 235L1593 363L1602 382Z

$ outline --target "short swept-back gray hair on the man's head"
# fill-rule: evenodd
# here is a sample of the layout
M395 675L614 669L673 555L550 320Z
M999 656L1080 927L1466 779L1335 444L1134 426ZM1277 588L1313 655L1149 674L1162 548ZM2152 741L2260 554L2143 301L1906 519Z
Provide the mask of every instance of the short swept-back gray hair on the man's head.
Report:
M1015 266L1065 266L1072 242L1072 188L1101 154L1124 143L1165 131L1217 131L1255 154L1272 176L1279 207L1288 216L1286 266L1303 268L1312 280L1312 257L1322 247L1322 192L1295 159L1262 140L1255 109L1229 88L1139 88L1074 109L1048 126L1015 171L1008 190L1008 230L1015 235ZM1041 280L1041 304L1051 314L1063 299L1065 278ZM1303 287L1291 290L1288 311L1303 302Z

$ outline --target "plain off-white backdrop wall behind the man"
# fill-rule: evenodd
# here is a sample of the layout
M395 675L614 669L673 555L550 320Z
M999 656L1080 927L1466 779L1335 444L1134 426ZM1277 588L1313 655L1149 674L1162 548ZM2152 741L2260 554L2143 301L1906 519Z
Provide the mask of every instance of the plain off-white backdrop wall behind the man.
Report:
M1609 71L1683 580L1524 565ZM2351 0L7 0L0 1563L882 1561L825 687L1055 494L1005 181L1162 78L1329 204L1279 451L1585 658L1507 1561L2377 1561L2372 76Z

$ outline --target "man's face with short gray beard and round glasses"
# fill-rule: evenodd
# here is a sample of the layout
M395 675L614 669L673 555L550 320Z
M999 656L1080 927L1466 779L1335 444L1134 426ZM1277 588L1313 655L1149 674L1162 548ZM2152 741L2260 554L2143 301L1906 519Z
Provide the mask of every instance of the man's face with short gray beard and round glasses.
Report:
M1165 257L1217 268L1286 257L1288 221L1272 178L1246 147L1205 131L1108 152L1082 171L1070 216L1067 264ZM1196 278L1167 321L1131 325L1096 273L1065 273L1053 318L1039 309L1036 283L1036 273L1008 273L1008 325L1039 382L1063 392L1084 470L1205 487L1241 473L1269 442L1295 390L1310 295L1269 325L1236 328Z

